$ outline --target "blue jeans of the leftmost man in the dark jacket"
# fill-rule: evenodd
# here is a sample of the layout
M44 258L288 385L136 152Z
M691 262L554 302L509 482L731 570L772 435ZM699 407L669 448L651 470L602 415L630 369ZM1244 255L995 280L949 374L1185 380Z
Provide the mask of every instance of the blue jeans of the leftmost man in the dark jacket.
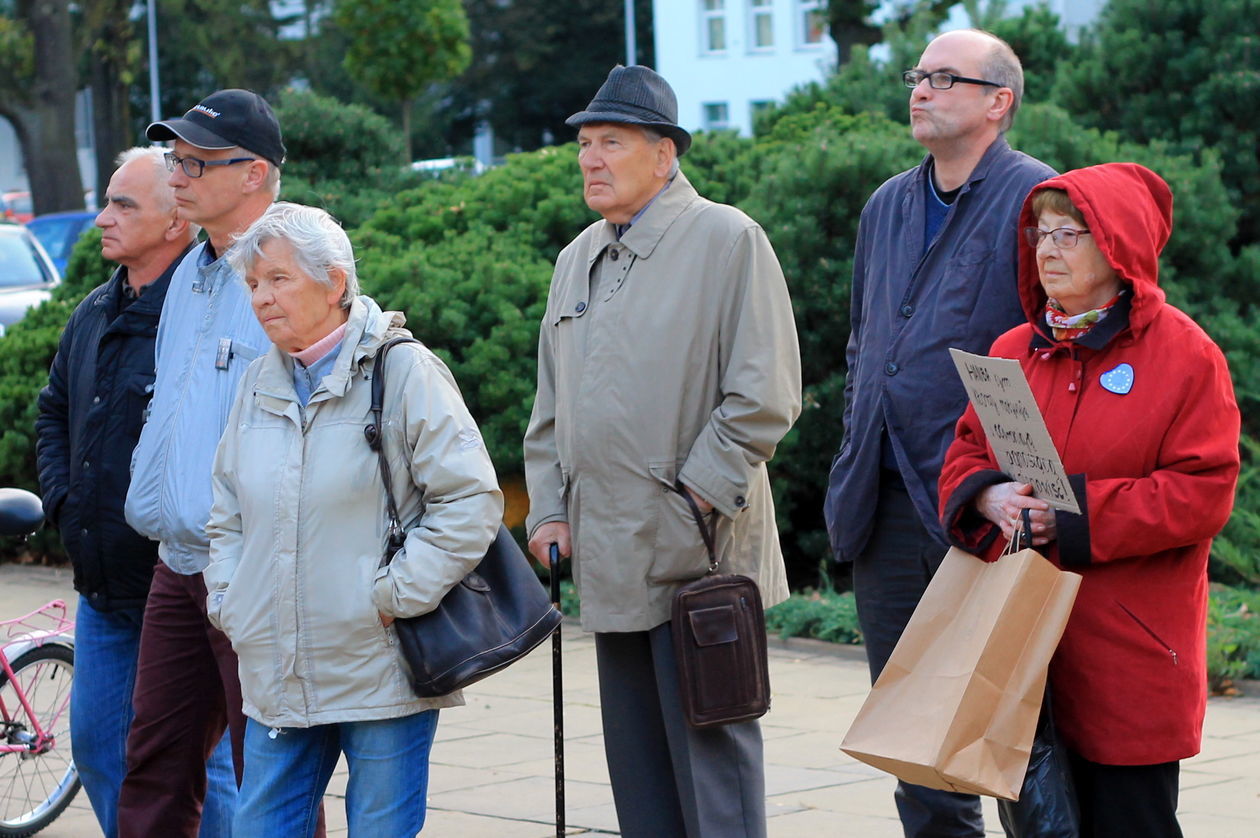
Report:
M83 790L106 838L118 833L118 789L126 774L131 691L140 655L144 609L97 611L79 597L74 626L74 680L71 684L71 750ZM229 838L236 810L236 774L227 736L205 765L209 788L202 810L202 838Z

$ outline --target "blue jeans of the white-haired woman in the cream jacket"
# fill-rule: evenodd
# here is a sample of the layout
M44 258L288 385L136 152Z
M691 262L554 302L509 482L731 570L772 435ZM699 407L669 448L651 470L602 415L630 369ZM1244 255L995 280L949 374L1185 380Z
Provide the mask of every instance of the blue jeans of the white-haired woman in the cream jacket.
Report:
M275 731L249 720L233 838L315 834L319 803L345 754L350 838L413 838L425 825L437 711Z

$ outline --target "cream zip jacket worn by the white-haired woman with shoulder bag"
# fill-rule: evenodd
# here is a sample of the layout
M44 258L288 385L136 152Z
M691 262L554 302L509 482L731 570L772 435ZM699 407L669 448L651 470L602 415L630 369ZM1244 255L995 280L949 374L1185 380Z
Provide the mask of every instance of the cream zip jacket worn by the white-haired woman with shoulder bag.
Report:
M379 567L387 514L369 421L374 355L403 316L354 300L333 370L299 403L280 349L246 372L214 462L210 621L241 662L244 713L270 727L396 718L461 704L417 698L379 614L432 610L485 554L503 496L446 365L388 357L384 446L404 548Z

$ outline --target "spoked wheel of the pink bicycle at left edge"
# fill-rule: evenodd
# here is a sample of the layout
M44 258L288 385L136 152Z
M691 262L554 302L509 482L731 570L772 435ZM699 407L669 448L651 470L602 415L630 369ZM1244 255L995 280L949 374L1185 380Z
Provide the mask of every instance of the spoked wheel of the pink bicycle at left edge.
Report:
M35 728L18 701L20 687L34 717L53 741L35 751L0 754L0 835L33 835L62 814L78 794L79 779L71 757L71 679L74 651L62 645L32 649L13 662L14 682L0 672L0 741L29 743Z

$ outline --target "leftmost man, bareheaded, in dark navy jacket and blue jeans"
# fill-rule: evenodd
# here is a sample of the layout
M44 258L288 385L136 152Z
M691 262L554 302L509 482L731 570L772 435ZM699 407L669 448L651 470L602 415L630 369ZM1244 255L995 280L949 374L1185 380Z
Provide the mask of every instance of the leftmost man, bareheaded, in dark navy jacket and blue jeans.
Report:
M118 155L96 219L101 253L120 263L78 305L39 394L39 483L79 592L71 696L74 764L106 835L117 834L140 624L158 544L122 515L131 450L154 382L154 338L166 285L195 229L175 213L163 149ZM210 770L203 835L226 834L236 795L231 749Z

